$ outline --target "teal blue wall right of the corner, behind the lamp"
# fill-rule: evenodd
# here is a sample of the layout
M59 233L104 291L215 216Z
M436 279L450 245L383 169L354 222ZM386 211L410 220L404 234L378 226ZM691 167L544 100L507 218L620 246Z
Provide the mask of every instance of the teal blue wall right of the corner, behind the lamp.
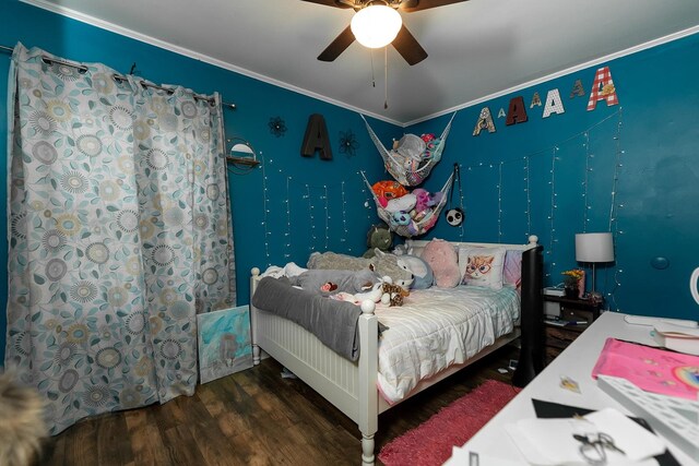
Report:
M612 222L617 261L597 267L596 288L607 295L611 309L697 320L699 306L688 286L691 271L699 266L697 57L699 35L692 35L600 64L611 69L618 106L607 107L601 101L596 109L587 111L599 68L592 67L460 110L445 157L426 184L430 190L438 189L458 162L463 167L466 210L463 237L520 243L526 241L528 232L535 234L546 250L546 282L557 284L561 282L560 272L579 265L574 234L585 225L587 231L609 230L618 153L621 166L617 167L616 215ZM576 80L581 80L585 95L571 99ZM559 89L566 111L544 119L544 107L530 108L530 104L535 92L544 100L553 88ZM516 96L524 98L529 121L508 127L497 115L500 108L507 112ZM496 132L473 136L478 112L485 106L493 112ZM448 118L441 117L438 122L443 127ZM434 132L435 127L440 124L431 120L407 131L420 134ZM554 147L558 147L555 166ZM525 192L525 158L530 160L531 208ZM590 164L585 165L588 159ZM557 205L553 222L552 199ZM428 234L430 238L451 240L461 235L459 228L443 220ZM651 265L659 256L670 261L667 268Z

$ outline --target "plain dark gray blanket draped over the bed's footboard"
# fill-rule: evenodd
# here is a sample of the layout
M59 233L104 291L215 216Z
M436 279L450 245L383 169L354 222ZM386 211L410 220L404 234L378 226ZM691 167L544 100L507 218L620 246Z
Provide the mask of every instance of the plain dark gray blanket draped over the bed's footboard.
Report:
M252 306L297 323L340 356L359 359L360 307L294 288L285 277L260 279Z

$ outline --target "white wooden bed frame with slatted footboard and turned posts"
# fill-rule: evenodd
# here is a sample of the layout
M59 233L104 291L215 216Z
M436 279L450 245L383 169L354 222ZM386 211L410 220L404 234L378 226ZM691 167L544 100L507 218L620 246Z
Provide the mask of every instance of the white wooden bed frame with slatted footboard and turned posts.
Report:
M537 238L531 236L529 244L493 244L474 242L452 242L452 244L505 247L526 251L536 247ZM411 241L415 247L424 247L429 241ZM260 270L251 271L250 297L260 280ZM260 350L294 372L323 398L357 423L362 432L362 464L372 465L374 434L378 429L379 415L396 404L389 405L378 393L378 320L374 314L375 303L362 303L359 316L359 360L352 362L323 345L315 335L298 324L273 313L257 309L250 303L250 325L252 330L252 360L260 363ZM439 374L424 380L410 393L422 392L464 367L477 361L501 346L517 339L520 328L495 340L462 365L455 365Z

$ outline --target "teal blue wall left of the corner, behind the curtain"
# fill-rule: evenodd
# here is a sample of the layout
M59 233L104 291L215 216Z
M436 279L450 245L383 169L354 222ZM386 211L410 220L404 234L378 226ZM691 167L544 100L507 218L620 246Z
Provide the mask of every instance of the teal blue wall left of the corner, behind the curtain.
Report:
M238 303L249 301L249 276L253 266L265 268L269 264L284 264L289 261L305 265L310 250L330 249L356 254L366 250L366 231L378 218L374 208L365 207L365 202L370 198L358 171L367 170L369 179L382 178L382 165L378 162L374 144L358 113L19 1L0 0L0 45L11 47L17 41L22 41L26 47L39 47L70 60L102 62L125 74L135 62L138 73L152 82L181 84L200 94L217 91L224 100L237 105L235 111L224 110L226 135L242 138L261 152L265 160L266 176L264 180L263 170L258 168L247 175L229 177ZM9 55L0 52L0 76L8 75L9 64ZM0 79L2 159L7 159L7 80ZM300 156L308 117L312 113L321 113L324 117L333 152L332 160L321 160L318 155L312 158ZM282 138L276 138L270 132L268 123L273 117L281 117L285 121L287 131ZM392 124L370 121L382 139L390 141L398 131ZM353 157L340 151L340 133L348 131L356 135L358 143L356 155ZM4 164L0 170L0 179L5 180ZM288 177L292 177L292 180L287 191ZM266 194L263 191L264 183L268 188ZM5 182L0 182L0 187L7 195ZM325 187L330 216L328 223ZM306 198L307 192L310 193L310 198ZM265 199L266 210L270 211L266 235L262 225ZM287 236L287 200L293 222L291 237ZM7 231L7 205L0 204L0 228ZM346 223L343 218L346 218ZM265 243L269 247L265 247ZM287 247L289 243L291 248ZM0 263L7 263L7 243L0 248ZM7 320L7 266L0 267L0 296L3 297L0 312L2 355Z

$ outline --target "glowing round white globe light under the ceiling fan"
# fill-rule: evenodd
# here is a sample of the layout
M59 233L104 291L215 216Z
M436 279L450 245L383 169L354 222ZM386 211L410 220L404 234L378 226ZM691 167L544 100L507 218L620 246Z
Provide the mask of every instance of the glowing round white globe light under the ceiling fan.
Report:
M383 4L372 4L359 10L350 27L354 38L368 48L380 48L391 44L403 25L398 11Z

